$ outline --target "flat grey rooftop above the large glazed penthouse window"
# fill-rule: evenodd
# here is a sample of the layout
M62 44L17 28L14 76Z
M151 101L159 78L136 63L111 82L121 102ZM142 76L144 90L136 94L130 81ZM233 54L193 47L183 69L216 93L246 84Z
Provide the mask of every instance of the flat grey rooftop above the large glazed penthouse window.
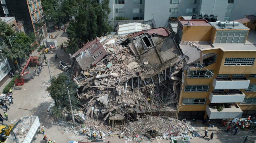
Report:
M209 22L210 25L215 27L215 29L249 29L245 25L243 25L240 22L224 22L224 21L219 21L219 22Z

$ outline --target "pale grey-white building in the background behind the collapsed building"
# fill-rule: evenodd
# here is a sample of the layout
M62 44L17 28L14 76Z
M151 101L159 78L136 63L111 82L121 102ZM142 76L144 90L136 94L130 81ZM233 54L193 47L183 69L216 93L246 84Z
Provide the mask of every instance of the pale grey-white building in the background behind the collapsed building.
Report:
M204 13L214 14L220 21L232 21L256 15L255 5L256 0L110 0L109 19L155 19L156 27L162 27L168 26L169 18Z

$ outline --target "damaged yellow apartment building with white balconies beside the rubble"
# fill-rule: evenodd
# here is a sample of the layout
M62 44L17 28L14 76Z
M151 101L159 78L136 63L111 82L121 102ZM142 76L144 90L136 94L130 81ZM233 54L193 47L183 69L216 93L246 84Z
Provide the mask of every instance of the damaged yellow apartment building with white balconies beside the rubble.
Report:
M256 114L254 33L238 21L178 21L176 39L188 65L182 73L179 119ZM225 108L218 111L216 105Z

